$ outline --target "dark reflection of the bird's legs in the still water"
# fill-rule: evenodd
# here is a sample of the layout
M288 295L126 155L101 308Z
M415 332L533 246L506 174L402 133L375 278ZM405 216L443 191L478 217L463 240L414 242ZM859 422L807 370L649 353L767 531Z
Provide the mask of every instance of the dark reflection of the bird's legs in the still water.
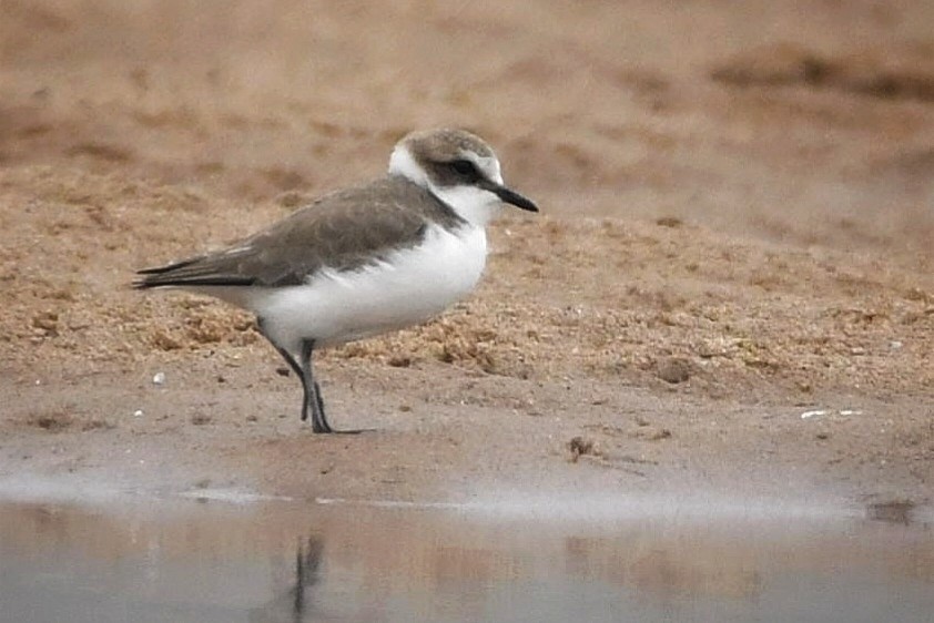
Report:
M295 552L295 584L276 599L250 612L251 623L307 623L327 616L314 607L312 589L318 583L324 542L309 537Z

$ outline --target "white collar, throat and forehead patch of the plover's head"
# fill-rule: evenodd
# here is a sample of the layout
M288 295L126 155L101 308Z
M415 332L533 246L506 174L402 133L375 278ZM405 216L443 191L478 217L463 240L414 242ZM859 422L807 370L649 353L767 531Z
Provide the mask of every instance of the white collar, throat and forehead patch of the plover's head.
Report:
M495 164L494 171L498 180L494 181L501 184L502 177L499 174L499 164ZM490 219L499 214L501 208L499 197L496 194L477 186L435 185L404 144L396 145L393 155L389 156L389 174L402 175L423 188L427 188L433 195L449 205L458 216L475 227L486 226Z

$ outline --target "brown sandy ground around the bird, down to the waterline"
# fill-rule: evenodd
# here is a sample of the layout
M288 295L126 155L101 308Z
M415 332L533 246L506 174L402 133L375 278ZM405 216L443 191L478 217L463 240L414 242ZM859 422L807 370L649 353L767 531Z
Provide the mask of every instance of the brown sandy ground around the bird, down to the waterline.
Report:
M0 14L4 479L931 502L931 3ZM332 422L375 432L303 427L248 316L128 288L434 125L542 214L493 228L446 316L319 358Z

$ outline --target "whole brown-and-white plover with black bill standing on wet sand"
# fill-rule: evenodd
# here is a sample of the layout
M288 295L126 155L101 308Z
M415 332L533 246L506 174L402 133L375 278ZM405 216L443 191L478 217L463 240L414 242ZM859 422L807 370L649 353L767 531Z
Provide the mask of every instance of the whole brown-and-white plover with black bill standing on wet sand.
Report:
M302 381L302 420L311 413L315 432L334 432L315 349L423 323L469 294L502 203L538 212L504 184L480 137L413 132L385 176L324 195L229 248L139 270L133 286L184 288L255 314Z

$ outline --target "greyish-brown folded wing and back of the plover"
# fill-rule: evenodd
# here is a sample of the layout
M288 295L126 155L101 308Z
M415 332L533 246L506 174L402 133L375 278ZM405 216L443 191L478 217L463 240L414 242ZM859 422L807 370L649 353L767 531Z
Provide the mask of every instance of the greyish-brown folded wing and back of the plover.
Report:
M459 217L422 187L397 177L339 191L227 249L140 270L136 288L287 286L322 268L352 270L418 244L429 218Z

